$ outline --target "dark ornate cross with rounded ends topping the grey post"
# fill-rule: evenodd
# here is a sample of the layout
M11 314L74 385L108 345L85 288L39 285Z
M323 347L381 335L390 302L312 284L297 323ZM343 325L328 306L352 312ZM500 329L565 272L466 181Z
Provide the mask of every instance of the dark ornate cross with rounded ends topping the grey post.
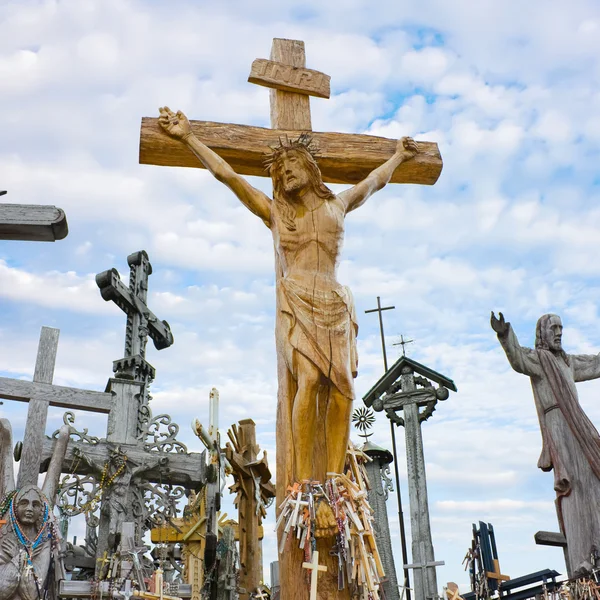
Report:
M116 269L96 275L100 294L108 302L112 300L127 314L125 332L125 357L113 363L113 370L135 381L154 379L154 368L146 362L148 336L157 350L164 350L173 343L173 334L166 321L159 321L148 308L148 277L152 265L145 250L127 257L130 268L129 287L126 287Z

